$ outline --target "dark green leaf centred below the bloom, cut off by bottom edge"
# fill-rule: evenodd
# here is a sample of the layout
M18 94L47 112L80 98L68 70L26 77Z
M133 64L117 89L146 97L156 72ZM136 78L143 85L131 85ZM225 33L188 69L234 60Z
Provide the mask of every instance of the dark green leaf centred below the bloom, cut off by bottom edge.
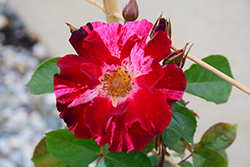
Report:
M142 152L118 152L104 155L108 167L153 167L150 159Z

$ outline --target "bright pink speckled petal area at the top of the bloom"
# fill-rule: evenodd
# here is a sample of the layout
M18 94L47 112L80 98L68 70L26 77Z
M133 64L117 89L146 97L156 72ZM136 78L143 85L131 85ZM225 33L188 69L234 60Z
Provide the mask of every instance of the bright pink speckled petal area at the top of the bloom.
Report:
M135 42L138 42L139 45L145 45L151 27L152 23L144 19L140 22L128 22L124 25L111 23L98 27L95 31L100 35L111 55L121 58L121 51L125 51L124 46L130 52ZM121 60L126 57L123 55Z

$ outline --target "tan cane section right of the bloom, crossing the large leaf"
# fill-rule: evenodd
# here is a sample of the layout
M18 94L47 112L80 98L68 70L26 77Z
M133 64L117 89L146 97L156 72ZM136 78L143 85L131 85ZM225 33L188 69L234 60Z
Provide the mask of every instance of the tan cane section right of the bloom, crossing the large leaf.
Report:
M171 48L173 50L179 50L180 48L173 45L171 46ZM225 81L227 81L228 83L234 85L235 87L239 88L240 90L244 91L245 93L247 93L248 95L250 95L250 89L247 88L246 86L240 84L239 82L235 81L234 79L232 79L231 77L227 76L226 74L222 73L221 71L217 70L216 68L210 66L209 64L205 63L204 61L198 59L197 57L188 54L187 58L189 58L190 60L192 60L193 62L195 62L196 64L200 65L201 67L207 69L208 71L214 73L215 75L217 75L218 77L224 79Z

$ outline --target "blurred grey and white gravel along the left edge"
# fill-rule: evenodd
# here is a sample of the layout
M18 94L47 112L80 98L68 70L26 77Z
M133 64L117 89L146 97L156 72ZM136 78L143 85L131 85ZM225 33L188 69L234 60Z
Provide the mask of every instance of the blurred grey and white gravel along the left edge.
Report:
M32 167L44 133L62 128L53 94L32 95L25 86L38 65L52 57L0 0L0 167Z

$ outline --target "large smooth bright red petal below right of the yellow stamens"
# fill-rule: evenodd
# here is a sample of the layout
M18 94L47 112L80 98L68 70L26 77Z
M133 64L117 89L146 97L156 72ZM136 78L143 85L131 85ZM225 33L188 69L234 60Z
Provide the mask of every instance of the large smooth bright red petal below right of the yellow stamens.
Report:
M141 89L135 95L123 122L129 127L136 121L150 135L157 135L166 129L171 120L171 108L166 103L165 94L156 90L152 94L148 89Z

